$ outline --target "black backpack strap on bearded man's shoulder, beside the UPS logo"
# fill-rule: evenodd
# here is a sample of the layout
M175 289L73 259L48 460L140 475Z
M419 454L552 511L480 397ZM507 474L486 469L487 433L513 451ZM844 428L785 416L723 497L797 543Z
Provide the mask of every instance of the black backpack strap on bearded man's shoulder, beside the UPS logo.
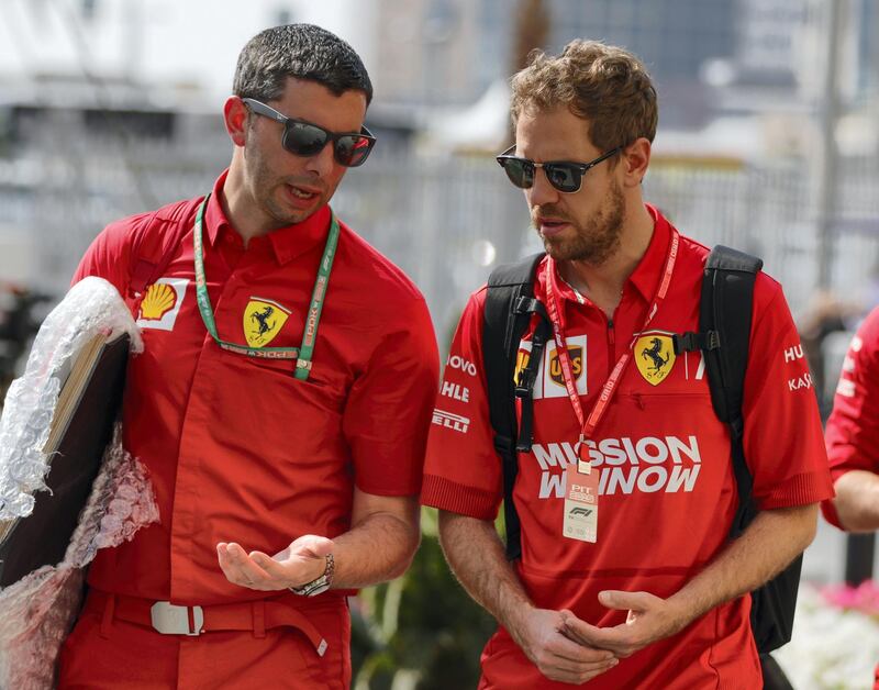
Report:
M536 254L491 271L482 321L482 366L489 416L494 430L494 449L503 469L507 558L510 560L522 555L519 514L513 504L513 486L519 474L516 454L531 449L532 391L543 359L543 348L550 333L546 310L534 299L534 277L543 256ZM541 318L541 323L532 341L528 364L514 382L519 341L533 314ZM516 430L515 398L522 404L521 430Z

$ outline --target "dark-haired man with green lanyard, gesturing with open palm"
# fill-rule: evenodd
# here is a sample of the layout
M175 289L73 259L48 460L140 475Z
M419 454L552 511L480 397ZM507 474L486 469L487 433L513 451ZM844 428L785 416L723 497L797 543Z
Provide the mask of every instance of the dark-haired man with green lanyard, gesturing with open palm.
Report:
M159 523L101 550L60 686L347 688L347 596L408 567L437 353L424 299L327 202L375 138L312 25L242 51L210 194L110 225L75 280L130 300L126 449Z

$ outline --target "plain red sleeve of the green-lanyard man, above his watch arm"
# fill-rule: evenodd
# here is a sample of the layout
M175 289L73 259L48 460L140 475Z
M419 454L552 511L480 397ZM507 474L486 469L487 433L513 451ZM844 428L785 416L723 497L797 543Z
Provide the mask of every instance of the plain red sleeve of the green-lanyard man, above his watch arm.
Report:
M378 496L419 492L439 356L424 299L407 299L366 371L352 387L342 422L357 487Z

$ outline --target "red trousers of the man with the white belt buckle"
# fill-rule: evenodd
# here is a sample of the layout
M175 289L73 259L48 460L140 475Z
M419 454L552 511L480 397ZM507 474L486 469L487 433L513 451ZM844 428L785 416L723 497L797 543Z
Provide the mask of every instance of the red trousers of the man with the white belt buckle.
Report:
M338 598L308 609L310 623L329 644L323 656L294 627L163 635L112 611L108 615L103 599L87 599L62 648L59 688L346 690L351 686L351 619Z

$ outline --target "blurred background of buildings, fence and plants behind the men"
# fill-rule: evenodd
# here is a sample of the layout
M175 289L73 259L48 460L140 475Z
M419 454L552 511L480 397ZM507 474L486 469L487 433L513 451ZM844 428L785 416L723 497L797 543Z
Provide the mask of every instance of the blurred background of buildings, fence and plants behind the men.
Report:
M764 258L828 411L879 303L879 0L0 0L0 387L107 223L210 189L238 51L300 21L369 69L379 144L333 205L414 278L442 348L491 268L541 248L493 160L510 75L534 47L599 38L636 53L659 92L645 197L704 244ZM493 623L447 575L429 512L424 530L413 569L353 602L358 689L475 685ZM871 536L822 524L803 578L857 585L875 561ZM855 633L874 664L878 620L879 605ZM822 634L845 657L838 627ZM794 643L792 678L814 657ZM869 687L843 663L795 687Z

